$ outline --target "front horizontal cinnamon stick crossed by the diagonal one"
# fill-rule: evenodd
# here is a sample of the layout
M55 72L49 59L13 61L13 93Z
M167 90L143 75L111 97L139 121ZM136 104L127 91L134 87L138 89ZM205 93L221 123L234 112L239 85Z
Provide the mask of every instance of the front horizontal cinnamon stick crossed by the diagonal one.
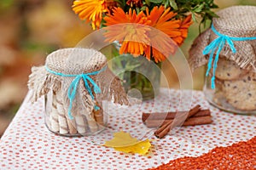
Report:
M147 127L160 127L162 124L166 124L170 122L170 120L147 120L145 125ZM203 125L210 124L212 122L212 116L191 116L187 121L183 122L182 126L195 126L195 125Z

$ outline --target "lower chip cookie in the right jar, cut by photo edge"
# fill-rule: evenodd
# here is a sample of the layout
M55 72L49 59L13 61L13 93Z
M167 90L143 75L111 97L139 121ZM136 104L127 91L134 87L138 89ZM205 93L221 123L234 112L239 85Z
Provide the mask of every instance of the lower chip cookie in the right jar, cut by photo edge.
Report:
M240 79L224 81L224 97L236 109L256 110L256 74L250 73Z

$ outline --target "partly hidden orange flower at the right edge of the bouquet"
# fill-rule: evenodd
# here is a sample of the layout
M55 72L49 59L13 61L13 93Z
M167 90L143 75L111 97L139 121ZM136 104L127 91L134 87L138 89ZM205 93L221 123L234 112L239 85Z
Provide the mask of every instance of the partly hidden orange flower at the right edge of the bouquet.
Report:
M180 46L186 37L188 37L188 29L189 26L193 23L193 20L191 20L191 14L187 16L183 21L180 21L180 27L179 31L181 32L180 36L172 37L173 41L177 42L177 45Z

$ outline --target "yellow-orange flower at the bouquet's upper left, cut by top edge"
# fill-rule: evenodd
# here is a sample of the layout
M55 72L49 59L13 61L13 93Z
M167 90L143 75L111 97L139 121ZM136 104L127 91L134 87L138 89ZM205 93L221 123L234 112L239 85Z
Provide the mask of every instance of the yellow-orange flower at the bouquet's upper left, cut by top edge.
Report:
M81 20L91 21L93 30L100 28L102 13L108 12L106 0L76 0L73 2L73 11L79 14Z

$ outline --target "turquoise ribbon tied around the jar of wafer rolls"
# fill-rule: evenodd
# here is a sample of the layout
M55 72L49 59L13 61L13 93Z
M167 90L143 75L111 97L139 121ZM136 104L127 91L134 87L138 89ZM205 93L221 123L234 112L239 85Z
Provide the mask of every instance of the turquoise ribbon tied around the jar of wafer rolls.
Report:
M89 82L92 84L93 87L93 91L95 94L100 94L102 93L101 88L96 84L96 82L94 82L94 80L92 80L90 78L90 76L94 76L96 74L99 74L102 71L105 71L107 69L107 66L103 67L102 70L99 71L93 71L93 72L89 72L89 73L83 73L83 74L79 74L79 75L67 75L67 74L63 74L61 72L56 72L56 71L52 71L50 70L47 65L45 65L45 69L46 71L48 71L51 74L54 74L56 76L60 76L60 77L75 77L73 79L73 82L71 82L68 90L67 90L67 97L69 99L69 107L68 107L68 117L70 119L73 119L73 116L71 114L71 110L72 110L72 105L73 105L73 99L76 96L77 93L77 89L79 86L79 82L81 79L84 80L84 86L87 89L88 93L90 94L91 99L94 99L94 95L92 94L92 89L90 88ZM99 109L98 106L95 105L94 109L97 111Z

